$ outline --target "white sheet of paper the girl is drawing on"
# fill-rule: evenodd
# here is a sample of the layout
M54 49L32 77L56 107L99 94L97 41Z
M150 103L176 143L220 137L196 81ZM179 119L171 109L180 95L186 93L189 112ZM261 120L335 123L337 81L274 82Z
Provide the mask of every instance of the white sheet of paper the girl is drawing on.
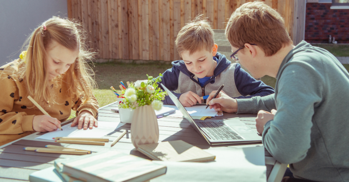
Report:
M54 137L89 137L89 138L101 138L104 135L113 132L119 127L120 122L107 122L98 121L98 127L93 129L77 129L77 126L71 127L70 123L62 126L63 130L57 129L55 131L43 134L36 139L54 140Z

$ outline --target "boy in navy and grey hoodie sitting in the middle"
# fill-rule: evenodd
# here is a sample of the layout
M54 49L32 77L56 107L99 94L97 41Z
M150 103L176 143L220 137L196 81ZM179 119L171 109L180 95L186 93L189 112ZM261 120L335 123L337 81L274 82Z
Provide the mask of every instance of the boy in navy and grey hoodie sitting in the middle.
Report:
M201 96L208 95L223 84L223 91L234 98L274 93L272 87L255 80L239 64L231 64L224 55L217 53L213 30L202 15L179 31L176 47L183 61L172 62L172 69L163 73L161 83L173 90L184 106L201 103ZM174 103L166 96L164 104Z

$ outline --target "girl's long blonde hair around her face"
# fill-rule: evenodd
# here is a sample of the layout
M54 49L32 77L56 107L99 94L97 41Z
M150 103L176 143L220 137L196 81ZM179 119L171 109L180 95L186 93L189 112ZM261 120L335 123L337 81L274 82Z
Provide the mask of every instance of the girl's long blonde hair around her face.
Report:
M83 103L90 100L92 89L96 82L92 76L94 72L87 64L95 53L88 51L84 44L84 31L78 22L53 16L38 26L25 42L27 55L19 62L15 76L24 81L28 94L43 106L57 104L55 94L51 93L48 73L46 71L46 51L52 41L56 41L69 50L80 49L75 63L69 69L52 81L60 80L67 83L68 95L73 99L80 98ZM28 43L29 42L29 43ZM57 84L55 84L57 85Z

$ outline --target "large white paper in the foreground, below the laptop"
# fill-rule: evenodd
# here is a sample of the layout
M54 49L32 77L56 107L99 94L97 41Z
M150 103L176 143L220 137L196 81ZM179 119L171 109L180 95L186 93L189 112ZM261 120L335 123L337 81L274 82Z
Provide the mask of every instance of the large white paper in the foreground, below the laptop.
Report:
M249 148L223 148L224 147L217 147L217 149L210 148L205 150L217 156L215 161L209 163L153 161L153 163L166 165L167 172L165 175L150 180L150 182L267 181L267 168L265 166L263 146ZM229 156L219 158L218 156L222 156L220 155L221 152L228 152Z

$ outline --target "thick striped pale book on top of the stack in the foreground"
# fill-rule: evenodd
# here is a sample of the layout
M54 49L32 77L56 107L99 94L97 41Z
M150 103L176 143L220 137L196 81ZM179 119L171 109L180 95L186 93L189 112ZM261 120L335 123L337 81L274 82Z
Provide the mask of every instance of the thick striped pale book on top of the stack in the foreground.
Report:
M62 173L90 182L142 182L166 173L166 166L117 151L62 161Z

